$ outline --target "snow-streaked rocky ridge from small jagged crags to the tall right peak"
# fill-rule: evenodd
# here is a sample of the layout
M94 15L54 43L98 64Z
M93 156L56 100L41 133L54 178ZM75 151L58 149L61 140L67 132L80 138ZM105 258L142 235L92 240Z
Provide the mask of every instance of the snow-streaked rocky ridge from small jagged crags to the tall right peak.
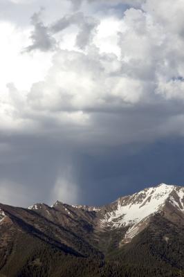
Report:
M181 195L178 195L178 192L181 193ZM176 196L178 196L178 201L176 201ZM154 203L153 201L151 202L151 197L154 198ZM158 200L161 201L159 202ZM104 218L100 221L102 228L103 226L110 226L111 228L118 228L120 226L130 226L131 228L129 228L129 230L127 231L124 240L126 242L129 242L129 240L134 238L134 236L139 231L142 231L142 229L144 229L147 226L147 221L149 220L149 217L151 215L162 211L163 207L161 206L165 205L166 201L169 201L171 204L175 204L175 206L178 205L180 211L184 212L184 187L176 185L167 185L162 183L158 186L140 190L140 192L134 193L133 195L119 197L116 201L112 202L111 204L107 204L101 207L86 205L68 205L57 201L55 202L55 204L53 204L53 206L51 206L51 208L57 205L65 205L72 206L73 208L77 208L79 210L95 211L97 214L103 213L104 210L110 209L111 211L105 213ZM148 205L149 203L151 205ZM40 205L46 204L35 204L29 208L37 210L38 206ZM116 209L111 208L113 206L117 206ZM142 208L144 206L146 207L146 209ZM68 211L68 213L71 212Z

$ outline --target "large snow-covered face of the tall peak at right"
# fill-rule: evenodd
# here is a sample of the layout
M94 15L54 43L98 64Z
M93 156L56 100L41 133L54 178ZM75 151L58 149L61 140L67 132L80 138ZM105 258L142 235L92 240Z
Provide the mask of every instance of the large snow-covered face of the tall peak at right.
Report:
M184 213L184 188L160 184L134 195L121 197L111 204L112 209L104 214L101 224L111 229L127 227L125 240L129 242L147 226L151 215L163 211L166 203Z

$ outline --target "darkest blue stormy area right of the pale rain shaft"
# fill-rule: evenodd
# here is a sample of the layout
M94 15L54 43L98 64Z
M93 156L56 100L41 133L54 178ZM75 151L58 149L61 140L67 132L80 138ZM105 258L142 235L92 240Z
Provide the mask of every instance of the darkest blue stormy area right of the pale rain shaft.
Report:
M101 157L82 157L83 204L107 204L162 182L182 186L183 146L181 139L168 139L145 145L122 145L107 150Z

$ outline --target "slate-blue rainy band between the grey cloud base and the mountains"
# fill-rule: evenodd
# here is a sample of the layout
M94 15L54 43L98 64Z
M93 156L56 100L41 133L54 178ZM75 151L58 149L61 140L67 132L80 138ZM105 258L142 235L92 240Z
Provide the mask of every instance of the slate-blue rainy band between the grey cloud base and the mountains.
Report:
M56 199L71 204L105 204L146 186L161 182L183 184L183 140L168 139L157 143L103 145L70 148L42 138L12 137L6 139L14 152L1 159L1 202L28 206L35 202L52 204ZM74 170L67 176L68 164ZM57 177L75 179L68 193L55 194ZM68 184L68 183L67 183ZM2 190L1 190L2 191ZM4 190L3 190L4 191ZM75 197L73 197L73 195ZM4 197L4 199L3 199ZM9 200L7 199L9 198ZM72 201L70 200L72 199Z

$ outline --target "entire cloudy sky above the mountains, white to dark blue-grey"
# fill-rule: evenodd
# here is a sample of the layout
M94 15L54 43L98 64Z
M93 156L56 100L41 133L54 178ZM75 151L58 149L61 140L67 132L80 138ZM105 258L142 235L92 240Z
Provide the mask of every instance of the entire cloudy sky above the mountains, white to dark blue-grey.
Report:
M0 202L184 184L183 0L0 1Z

